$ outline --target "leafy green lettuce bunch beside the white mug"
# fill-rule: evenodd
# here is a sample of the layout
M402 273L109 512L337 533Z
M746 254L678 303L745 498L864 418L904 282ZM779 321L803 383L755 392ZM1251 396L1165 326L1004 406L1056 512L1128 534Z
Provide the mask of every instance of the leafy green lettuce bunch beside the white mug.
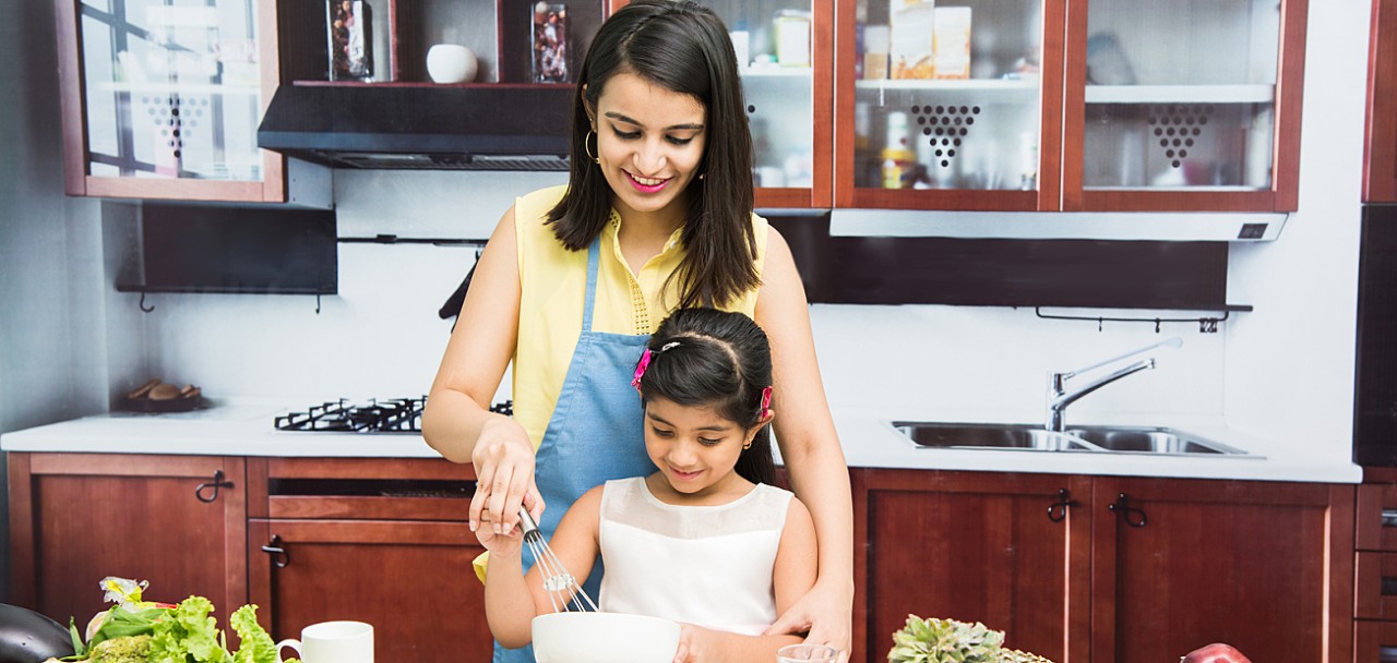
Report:
M105 582L105 581L103 581ZM109 599L110 600L110 599ZM177 604L119 600L88 625L84 642L71 621L75 656L64 660L87 663L277 663L277 643L257 624L257 606L239 607L228 625L242 641L237 652L228 650L226 634L218 630L214 604L190 596ZM296 659L288 659L292 663ZM296 662L299 663L299 662Z

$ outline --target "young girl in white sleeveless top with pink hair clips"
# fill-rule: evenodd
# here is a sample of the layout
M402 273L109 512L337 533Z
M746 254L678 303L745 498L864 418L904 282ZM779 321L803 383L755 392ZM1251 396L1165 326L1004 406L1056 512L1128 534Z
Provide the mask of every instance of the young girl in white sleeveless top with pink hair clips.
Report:
M767 336L740 313L680 308L655 331L631 384L659 470L584 493L549 546L576 578L601 554L602 611L679 621L676 662L770 663L800 641L761 632L814 585L817 549L809 511L773 486ZM517 528L475 533L490 551L490 631L504 646L528 645L532 618L553 610L539 569L524 574Z

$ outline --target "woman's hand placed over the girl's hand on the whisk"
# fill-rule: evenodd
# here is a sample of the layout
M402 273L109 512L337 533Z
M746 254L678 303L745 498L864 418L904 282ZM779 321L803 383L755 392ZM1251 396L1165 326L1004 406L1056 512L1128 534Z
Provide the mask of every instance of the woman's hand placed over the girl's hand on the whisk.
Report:
M481 427L471 463L475 465L471 532L479 535L482 525L495 535L514 532L524 504L535 521L543 514L543 498L534 483L534 442L513 419L492 416Z

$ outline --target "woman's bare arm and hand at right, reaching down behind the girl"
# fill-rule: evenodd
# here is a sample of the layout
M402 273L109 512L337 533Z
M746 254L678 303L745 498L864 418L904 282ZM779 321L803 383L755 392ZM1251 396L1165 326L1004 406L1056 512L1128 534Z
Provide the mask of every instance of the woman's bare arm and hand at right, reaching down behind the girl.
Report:
M757 295L757 324L771 341L775 429L795 494L819 535L819 576L768 634L802 632L806 642L849 650L854 613L854 501L830 405L814 356L810 314L795 260L781 233L768 230Z

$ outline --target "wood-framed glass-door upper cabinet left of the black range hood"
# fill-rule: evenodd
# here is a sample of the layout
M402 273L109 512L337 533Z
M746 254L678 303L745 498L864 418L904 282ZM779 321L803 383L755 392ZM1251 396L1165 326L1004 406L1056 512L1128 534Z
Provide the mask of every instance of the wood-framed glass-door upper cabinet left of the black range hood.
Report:
M284 201L257 148L277 85L256 0L57 3L68 193Z

